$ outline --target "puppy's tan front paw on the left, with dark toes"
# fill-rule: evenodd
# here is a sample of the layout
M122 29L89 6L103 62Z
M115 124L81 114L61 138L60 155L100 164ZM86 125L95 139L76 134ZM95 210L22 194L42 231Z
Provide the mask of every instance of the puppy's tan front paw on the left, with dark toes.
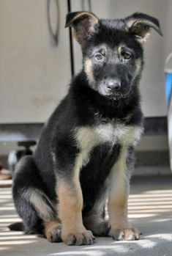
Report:
M73 231L69 233L61 233L61 238L65 244L68 245L88 245L94 243L94 235L89 230L83 230L81 232Z

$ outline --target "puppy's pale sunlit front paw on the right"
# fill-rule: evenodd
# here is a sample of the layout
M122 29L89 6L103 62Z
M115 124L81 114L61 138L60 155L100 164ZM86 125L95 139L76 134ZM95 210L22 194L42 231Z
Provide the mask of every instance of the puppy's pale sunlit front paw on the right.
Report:
M139 240L141 233L136 228L119 228L111 229L109 235L116 241L132 241Z

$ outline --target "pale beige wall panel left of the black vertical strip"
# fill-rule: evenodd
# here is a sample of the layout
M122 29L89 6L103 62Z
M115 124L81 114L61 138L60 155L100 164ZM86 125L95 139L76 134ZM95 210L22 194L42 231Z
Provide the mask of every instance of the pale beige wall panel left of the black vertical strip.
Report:
M51 1L56 27L56 4ZM45 122L70 82L67 1L59 1L59 42L51 43L47 0L0 0L0 123Z

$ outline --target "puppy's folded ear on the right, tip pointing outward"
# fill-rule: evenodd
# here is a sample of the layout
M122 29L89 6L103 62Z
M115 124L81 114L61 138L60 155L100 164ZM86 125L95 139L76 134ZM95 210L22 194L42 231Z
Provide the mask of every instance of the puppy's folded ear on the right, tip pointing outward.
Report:
M160 23L157 18L146 15L145 13L135 12L126 18L130 34L132 34L140 43L146 42L151 34L151 29L162 35Z

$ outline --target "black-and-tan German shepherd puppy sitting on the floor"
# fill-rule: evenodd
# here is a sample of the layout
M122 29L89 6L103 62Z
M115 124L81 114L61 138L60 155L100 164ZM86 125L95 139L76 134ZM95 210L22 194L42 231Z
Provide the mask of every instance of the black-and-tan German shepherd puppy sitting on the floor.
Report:
M100 20L72 12L67 26L81 45L83 68L45 124L34 156L18 163L12 192L20 228L68 245L92 244L93 234L139 239L128 222L127 197L143 131L142 45L151 29L162 34L159 22L143 13Z

